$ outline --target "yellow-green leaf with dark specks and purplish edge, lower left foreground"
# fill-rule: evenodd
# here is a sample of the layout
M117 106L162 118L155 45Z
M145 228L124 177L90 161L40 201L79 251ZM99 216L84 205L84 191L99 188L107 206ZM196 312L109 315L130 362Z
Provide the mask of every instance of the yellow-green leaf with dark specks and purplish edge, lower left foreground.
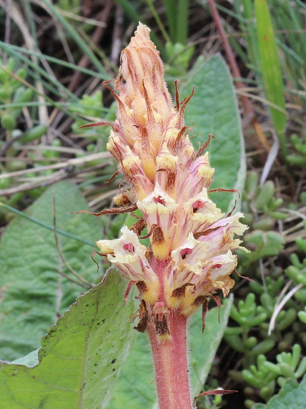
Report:
M100 409L135 339L126 280L110 269L42 338L35 368L0 362L1 409Z

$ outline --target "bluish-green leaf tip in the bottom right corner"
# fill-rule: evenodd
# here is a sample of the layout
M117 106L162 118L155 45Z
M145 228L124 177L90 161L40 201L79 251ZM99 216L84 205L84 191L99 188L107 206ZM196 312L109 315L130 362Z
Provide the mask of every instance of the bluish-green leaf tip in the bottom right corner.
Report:
M284 387L268 403L259 403L252 409L302 409L306 402L306 376L298 383L288 379Z

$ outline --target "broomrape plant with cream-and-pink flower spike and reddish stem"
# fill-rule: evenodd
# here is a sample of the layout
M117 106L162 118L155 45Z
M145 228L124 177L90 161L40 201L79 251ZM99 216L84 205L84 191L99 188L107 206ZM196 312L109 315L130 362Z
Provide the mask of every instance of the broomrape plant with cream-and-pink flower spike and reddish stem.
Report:
M241 243L234 235L242 235L246 226L239 221L241 213L224 217L209 198L214 169L208 153L202 155L209 141L195 151L184 125L193 91L180 103L175 82L172 106L163 63L146 26L139 24L122 51L115 91L105 85L117 101L107 148L131 190L114 198L118 208L99 214L139 209L143 217L130 229L123 226L118 239L99 240L99 254L129 280L126 298L133 285L139 290L135 328L149 335L160 409L191 409L187 320L202 306L204 328L208 299L219 305L216 291L226 297L234 286L233 250ZM144 228L148 234L141 236ZM141 244L147 237L148 247Z

